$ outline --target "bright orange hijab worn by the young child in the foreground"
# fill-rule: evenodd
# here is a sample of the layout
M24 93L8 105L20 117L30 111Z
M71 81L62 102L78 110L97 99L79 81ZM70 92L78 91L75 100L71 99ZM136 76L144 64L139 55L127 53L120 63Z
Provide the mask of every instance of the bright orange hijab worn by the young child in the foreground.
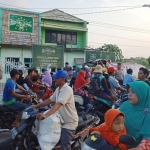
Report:
M92 131L99 131L101 137L104 138L110 145L116 146L119 143L119 137L123 134L126 134L126 129L124 128L122 132L115 133L112 131L111 126L113 124L114 119L119 115L123 114L118 109L110 109L105 114L105 123L98 126L97 128L90 129ZM124 144L119 144L119 148L121 150L127 150L127 146Z

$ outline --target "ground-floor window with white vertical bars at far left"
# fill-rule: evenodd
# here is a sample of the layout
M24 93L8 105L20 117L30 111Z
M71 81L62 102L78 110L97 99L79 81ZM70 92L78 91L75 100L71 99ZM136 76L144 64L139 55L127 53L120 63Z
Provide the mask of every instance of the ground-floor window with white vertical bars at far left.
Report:
M19 58L17 57L5 57L5 73L9 74L14 68L19 65Z

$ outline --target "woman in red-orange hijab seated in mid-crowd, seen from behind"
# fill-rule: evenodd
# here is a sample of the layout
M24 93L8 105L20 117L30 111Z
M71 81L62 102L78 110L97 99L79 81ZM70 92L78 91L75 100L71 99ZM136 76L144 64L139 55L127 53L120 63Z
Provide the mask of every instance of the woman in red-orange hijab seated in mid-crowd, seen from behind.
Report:
M90 106L90 97L88 95L87 87L86 87L86 80L85 80L85 72L83 70L79 71L78 76L76 78L74 88L78 95L82 96L84 100L84 107L87 110Z

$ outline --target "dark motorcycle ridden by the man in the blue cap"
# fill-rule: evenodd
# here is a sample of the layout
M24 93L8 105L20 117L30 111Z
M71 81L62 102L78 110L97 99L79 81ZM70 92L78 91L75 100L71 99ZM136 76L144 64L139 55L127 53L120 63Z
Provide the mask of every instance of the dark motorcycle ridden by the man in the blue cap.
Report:
M40 150L40 146L37 140L36 135L33 132L34 123L36 120L37 113L41 111L32 108L31 106L24 110L23 117L20 125L18 127L14 127L10 130L11 138L0 143L1 150ZM43 111L43 110L42 110ZM84 113L82 113L84 114ZM85 114L84 114L85 115ZM83 119L79 117L79 124L76 130L76 134L71 141L71 149L78 150L80 147L80 134L83 132L83 129L87 127L94 127L99 123L99 118L95 115L87 115L83 116ZM7 142L9 141L9 144ZM78 145L77 145L78 143ZM5 145L5 146L4 146ZM60 143L56 145L53 150L60 150Z

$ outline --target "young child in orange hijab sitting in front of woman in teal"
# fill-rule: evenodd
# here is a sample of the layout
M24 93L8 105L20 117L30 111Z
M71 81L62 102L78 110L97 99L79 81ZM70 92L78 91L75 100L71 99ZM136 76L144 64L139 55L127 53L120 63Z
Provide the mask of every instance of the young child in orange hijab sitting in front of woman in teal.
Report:
M111 146L116 146L119 143L119 137L126 134L124 127L124 114L117 109L110 109L105 114L105 122L98 127L86 129L81 136L81 139L89 134L99 134ZM127 150L124 144L118 145L121 150Z

